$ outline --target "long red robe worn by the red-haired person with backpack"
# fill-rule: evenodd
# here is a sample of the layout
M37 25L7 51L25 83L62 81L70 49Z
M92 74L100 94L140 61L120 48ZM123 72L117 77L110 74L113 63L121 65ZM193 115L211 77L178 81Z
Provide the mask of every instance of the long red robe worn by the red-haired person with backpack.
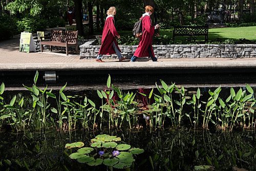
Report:
M134 56L137 57L148 57L148 47L151 48L153 57L155 57L154 50L152 47L153 35L155 26L151 26L151 18L145 15L142 19L142 37L140 37L139 46L136 49Z

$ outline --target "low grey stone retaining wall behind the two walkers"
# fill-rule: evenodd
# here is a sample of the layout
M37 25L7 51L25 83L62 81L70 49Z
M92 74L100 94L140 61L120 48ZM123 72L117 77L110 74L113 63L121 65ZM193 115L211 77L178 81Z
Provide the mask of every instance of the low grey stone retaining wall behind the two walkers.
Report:
M96 58L100 46L86 42L80 46L80 58ZM137 46L119 46L121 54L131 58ZM250 45L153 45L157 58L237 58L256 57L256 44ZM117 58L116 54L104 55L104 58Z

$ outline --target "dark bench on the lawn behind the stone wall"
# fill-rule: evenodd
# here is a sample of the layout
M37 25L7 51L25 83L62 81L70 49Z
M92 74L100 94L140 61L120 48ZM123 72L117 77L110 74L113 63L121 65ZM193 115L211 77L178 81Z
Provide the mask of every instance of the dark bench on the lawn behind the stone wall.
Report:
M173 40L175 36L205 36L205 42L208 41L209 26L174 26Z

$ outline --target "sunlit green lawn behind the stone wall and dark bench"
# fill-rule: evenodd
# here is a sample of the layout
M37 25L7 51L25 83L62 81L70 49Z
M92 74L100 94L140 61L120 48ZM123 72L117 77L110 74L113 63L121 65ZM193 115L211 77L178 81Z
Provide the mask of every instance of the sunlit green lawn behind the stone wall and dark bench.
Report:
M132 35L132 31L119 31L121 36ZM173 37L173 30L160 30L160 35L168 35ZM183 40L187 36L177 36L176 40ZM216 28L209 29L209 40L220 39L240 39L245 38L248 40L256 41L256 26L251 27L230 27L230 28ZM204 36L198 37L198 39L204 39Z

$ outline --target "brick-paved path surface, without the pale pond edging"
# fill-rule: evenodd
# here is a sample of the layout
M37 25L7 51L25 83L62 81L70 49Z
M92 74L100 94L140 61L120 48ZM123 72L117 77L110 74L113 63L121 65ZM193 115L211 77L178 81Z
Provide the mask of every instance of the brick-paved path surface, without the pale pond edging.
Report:
M176 58L159 59L159 62L172 61L230 61L230 60L255 60L256 58ZM65 51L60 52L19 52L19 36L6 41L0 41L0 63L88 63L95 62L95 59L80 59L79 54L70 54L66 56ZM118 59L106 59L106 62L118 62ZM125 62L129 62L127 59ZM138 59L138 61L152 62L148 59ZM134 62L137 63L137 62Z

